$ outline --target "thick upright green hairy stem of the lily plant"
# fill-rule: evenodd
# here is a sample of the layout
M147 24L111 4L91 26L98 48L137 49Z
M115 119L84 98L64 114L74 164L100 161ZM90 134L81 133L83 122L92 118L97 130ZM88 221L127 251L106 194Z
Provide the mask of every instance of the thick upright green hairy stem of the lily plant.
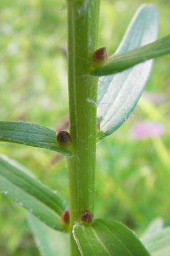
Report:
M97 47L100 0L68 0L70 232L84 210L94 209L97 80L89 75ZM71 255L80 255L71 234Z

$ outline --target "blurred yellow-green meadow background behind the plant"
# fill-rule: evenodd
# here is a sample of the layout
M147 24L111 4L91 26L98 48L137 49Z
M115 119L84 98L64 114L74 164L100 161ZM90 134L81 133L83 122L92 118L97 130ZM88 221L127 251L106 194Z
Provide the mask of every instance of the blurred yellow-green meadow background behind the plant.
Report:
M150 3L150 1L145 1ZM117 48L143 1L101 0L99 47ZM170 1L154 1L159 38L169 34ZM63 127L68 118L67 9L63 0L1 0L0 118ZM155 60L143 100L116 133L97 145L95 218L124 222L138 235L151 220L170 225L170 57ZM146 104L147 103L147 104ZM142 120L163 123L161 138L135 140L129 129ZM68 201L66 159L47 150L1 143ZM0 255L39 255L22 209L0 195Z

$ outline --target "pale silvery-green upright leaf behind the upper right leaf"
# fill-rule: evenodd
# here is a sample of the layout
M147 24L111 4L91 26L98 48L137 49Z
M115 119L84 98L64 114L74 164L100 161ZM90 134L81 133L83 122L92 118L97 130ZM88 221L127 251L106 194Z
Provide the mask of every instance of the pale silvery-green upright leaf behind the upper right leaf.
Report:
M157 34L157 10L153 5L142 5L131 20L116 53L150 43ZM100 77L97 98L99 138L112 134L126 121L143 92L152 64L153 60L148 60L116 75Z

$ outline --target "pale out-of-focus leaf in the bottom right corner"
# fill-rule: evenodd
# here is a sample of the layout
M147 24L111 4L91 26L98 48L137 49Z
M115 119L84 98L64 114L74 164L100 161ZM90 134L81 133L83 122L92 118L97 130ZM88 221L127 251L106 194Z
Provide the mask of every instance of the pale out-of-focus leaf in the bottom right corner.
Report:
M152 256L170 256L170 227L141 238Z

